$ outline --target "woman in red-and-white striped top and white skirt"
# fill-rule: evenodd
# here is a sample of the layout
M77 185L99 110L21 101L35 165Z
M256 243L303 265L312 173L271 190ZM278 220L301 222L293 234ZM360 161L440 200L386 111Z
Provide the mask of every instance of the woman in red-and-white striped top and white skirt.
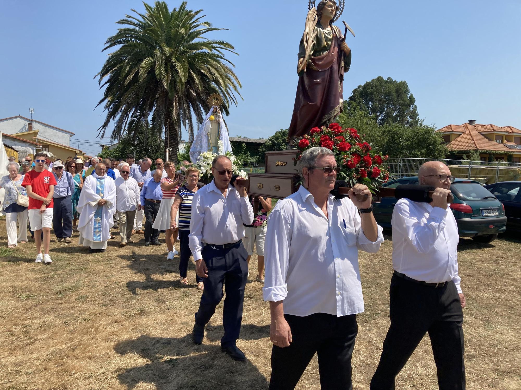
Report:
M177 230L170 229L170 209L172 207L173 200L176 197L176 192L179 187L181 187L182 181L175 177L176 166L173 165L173 162L167 161L165 163L165 171L168 176L162 178L160 181L163 198L161 200L161 204L159 205L159 211L157 212L157 217L154 220L152 227L161 231L165 230L166 246L168 248L168 255L166 256L166 259L173 260L173 257L177 254L177 251L174 252L173 249L173 244L177 240ZM175 218L176 216L174 216L174 220Z

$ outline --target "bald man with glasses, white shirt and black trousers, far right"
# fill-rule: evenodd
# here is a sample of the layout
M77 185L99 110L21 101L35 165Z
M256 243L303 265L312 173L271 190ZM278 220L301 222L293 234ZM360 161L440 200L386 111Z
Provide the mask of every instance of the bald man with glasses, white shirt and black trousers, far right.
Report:
M393 276L391 326L371 390L391 390L425 333L429 333L440 389L465 389L463 310L457 266L456 219L447 204L454 179L438 161L423 164L420 185L435 188L432 202L400 199L391 224Z

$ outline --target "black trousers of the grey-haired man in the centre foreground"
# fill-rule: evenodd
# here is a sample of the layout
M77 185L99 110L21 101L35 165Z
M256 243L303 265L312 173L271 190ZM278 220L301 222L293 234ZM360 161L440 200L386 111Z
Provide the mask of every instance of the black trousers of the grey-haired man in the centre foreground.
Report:
M358 333L356 315L337 317L315 313L306 317L284 314L293 342L271 350L270 390L295 388L315 353L320 388L351 390L351 356Z

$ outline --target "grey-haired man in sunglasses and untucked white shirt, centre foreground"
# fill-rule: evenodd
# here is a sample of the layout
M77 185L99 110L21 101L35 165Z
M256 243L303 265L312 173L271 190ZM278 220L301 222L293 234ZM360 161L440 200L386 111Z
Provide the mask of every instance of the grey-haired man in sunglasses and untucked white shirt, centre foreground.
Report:
M378 252L382 228L367 186L356 184L349 199L330 194L338 171L331 150L306 150L297 168L303 184L277 203L266 233L269 388L293 389L318 353L321 388L352 389L356 314L364 311L358 250Z

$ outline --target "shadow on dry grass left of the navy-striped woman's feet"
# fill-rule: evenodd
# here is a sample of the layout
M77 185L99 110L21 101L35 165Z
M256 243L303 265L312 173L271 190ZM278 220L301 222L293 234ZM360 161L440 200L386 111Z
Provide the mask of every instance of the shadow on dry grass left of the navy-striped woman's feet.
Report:
M173 260L166 260L164 255L143 255L132 251L132 254L120 255L119 257L129 262L127 267L132 271L145 276L145 281L127 282L127 289L133 295L137 295L138 289L157 291L159 289L168 289L171 287L196 288L196 284L181 285L179 280L160 280L153 277L153 275L179 275L179 256L176 256ZM195 265L192 262L188 262L188 269L195 270Z

